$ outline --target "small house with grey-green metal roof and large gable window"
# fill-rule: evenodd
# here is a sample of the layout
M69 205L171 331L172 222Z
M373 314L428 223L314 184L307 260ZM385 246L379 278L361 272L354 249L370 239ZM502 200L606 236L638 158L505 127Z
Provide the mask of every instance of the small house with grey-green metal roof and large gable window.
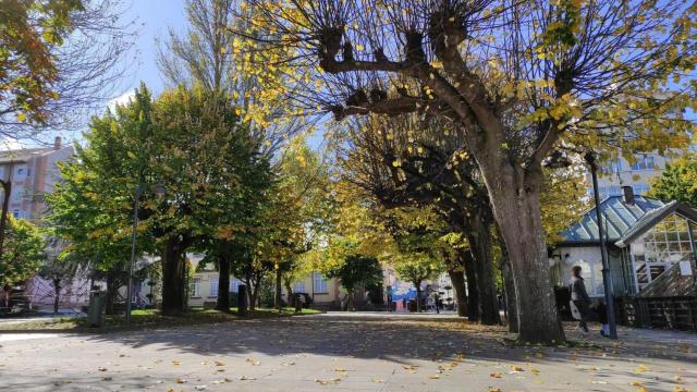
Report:
M656 282L667 271L683 271L693 281L697 246L697 210L677 203L650 197L610 196L599 206L607 232L608 260L615 296L656 293ZM571 268L580 266L591 297L604 295L598 222L595 208L560 233L550 257L554 285L564 286ZM685 272L686 271L686 272ZM680 275L680 273L677 273ZM668 277L668 275L667 275ZM695 283L681 287L695 287ZM687 295L681 292L663 296Z

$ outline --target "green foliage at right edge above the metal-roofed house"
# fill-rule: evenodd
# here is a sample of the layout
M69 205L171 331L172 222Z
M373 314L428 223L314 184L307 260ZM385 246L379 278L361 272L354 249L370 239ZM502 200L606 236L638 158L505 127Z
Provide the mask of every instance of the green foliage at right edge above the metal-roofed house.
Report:
M649 196L697 207L697 155L685 154L672 161L651 184Z

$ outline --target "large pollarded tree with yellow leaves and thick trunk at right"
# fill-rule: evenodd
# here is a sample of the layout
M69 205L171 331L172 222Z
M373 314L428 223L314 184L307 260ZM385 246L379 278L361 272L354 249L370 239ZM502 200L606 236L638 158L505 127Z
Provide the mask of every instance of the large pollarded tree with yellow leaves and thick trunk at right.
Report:
M309 85L325 87L306 93L315 99L286 90L301 98L296 105L323 103L337 119L416 112L462 130L511 259L519 339L564 341L540 219L542 161L570 145L624 151L684 145L692 123L682 109L695 101L697 7L653 0L249 3L266 35L247 38L290 51L279 54L284 64L318 71Z

